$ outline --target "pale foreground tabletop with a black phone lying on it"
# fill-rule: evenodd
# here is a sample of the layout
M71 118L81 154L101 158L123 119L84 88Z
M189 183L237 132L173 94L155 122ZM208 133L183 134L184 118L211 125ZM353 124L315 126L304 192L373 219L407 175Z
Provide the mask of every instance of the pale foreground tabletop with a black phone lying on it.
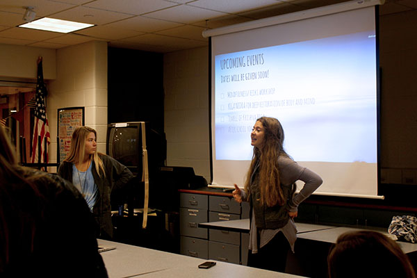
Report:
M123 243L98 239L101 246L116 247L114 250L101 252L110 278L126 277L184 277L184 278L297 278L281 272L250 268L245 265L217 261L210 269L200 269L198 265L204 259L183 256L158 250L147 249ZM213 261L213 260L211 260Z

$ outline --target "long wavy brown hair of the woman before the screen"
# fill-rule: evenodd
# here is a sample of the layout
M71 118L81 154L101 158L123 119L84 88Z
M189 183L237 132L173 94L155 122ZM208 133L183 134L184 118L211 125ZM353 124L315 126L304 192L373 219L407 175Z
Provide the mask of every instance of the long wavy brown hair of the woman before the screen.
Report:
M259 163L259 188L261 190L261 204L267 206L282 206L285 203L284 193L279 181L279 156L288 156L284 151L284 129L279 120L274 117L260 117L264 137L261 149L254 147L252 162L247 172L245 191L250 193L251 177L255 166Z

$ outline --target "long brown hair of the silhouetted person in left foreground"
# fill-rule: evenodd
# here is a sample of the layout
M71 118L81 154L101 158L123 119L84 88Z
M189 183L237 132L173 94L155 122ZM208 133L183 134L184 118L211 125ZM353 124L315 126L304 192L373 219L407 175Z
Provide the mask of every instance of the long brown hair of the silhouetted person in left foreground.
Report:
M15 148L0 126L0 275L16 254L33 252L37 223L44 206L33 181L45 177L17 164ZM17 252L17 250L19 252ZM23 256L23 255L22 255Z

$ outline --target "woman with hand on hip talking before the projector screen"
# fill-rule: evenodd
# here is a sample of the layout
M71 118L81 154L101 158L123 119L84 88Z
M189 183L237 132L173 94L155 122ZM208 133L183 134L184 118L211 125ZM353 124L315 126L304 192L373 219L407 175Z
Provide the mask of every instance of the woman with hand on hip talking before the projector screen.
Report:
M261 117L251 133L254 154L245 190L235 184L237 202L250 202L250 243L247 264L284 272L288 250L294 250L297 206L322 183L318 174L295 163L284 151L284 130L273 117ZM294 195L295 181L304 181Z

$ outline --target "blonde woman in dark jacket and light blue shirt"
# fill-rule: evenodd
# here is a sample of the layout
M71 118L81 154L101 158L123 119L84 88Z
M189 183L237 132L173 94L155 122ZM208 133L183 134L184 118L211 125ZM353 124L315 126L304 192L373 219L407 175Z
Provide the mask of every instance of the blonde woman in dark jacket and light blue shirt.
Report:
M110 195L133 177L131 171L111 156L97 152L97 132L81 126L72 133L70 153L61 163L58 174L71 181L85 198L99 231L97 237L112 238Z

